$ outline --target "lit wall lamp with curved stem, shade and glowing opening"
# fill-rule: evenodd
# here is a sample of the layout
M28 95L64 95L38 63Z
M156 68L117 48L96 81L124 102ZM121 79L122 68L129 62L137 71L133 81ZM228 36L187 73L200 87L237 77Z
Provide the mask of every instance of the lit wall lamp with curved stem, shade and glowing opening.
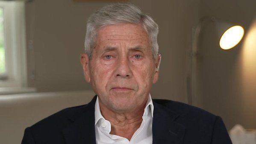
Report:
M188 95L188 104L197 106L197 96L196 92L196 58L197 51L199 49L199 36L202 29L202 26L208 22L214 22L217 28L217 34L219 38L219 46L222 50L229 50L235 47L244 36L244 29L242 26L227 23L224 21L217 20L215 17L203 17L200 19L196 28L193 29L192 37L192 53L190 54L190 62L188 68L187 76L187 95Z

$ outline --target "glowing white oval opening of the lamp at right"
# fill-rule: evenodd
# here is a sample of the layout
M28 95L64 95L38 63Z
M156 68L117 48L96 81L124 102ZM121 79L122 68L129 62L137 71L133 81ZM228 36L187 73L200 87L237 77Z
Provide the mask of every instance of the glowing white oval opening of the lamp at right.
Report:
M232 26L227 29L220 39L220 47L224 50L235 47L244 36L244 28L242 26Z

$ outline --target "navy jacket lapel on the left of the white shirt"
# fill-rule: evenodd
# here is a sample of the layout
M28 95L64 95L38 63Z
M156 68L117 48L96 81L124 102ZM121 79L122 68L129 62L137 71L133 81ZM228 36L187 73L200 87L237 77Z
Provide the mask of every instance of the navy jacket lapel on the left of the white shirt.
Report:
M67 144L96 144L94 127L95 101L96 96L84 106L82 112L78 112L69 118L73 123L62 131Z

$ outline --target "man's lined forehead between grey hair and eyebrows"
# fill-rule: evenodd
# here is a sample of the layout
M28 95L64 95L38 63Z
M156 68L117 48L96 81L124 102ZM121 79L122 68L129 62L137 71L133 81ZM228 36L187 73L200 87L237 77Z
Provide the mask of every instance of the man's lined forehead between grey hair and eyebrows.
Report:
M108 41L130 41L147 44L149 42L145 29L140 24L115 24L103 26L97 35L97 44Z

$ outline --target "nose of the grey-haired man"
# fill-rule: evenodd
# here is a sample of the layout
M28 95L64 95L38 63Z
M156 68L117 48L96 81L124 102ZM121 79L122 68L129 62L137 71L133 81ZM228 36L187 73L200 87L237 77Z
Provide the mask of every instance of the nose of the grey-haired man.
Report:
M130 78L132 76L130 62L126 56L118 59L115 75L122 78Z

